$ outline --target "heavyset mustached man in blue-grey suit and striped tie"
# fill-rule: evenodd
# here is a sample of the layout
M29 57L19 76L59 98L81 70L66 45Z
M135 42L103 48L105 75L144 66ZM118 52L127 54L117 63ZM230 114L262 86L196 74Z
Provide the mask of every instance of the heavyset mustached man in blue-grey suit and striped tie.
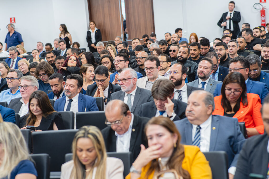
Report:
M188 98L187 118L175 122L181 135L180 142L196 145L201 152L225 151L228 154L229 175L234 175L245 137L236 118L211 115L214 108L211 93L194 91Z

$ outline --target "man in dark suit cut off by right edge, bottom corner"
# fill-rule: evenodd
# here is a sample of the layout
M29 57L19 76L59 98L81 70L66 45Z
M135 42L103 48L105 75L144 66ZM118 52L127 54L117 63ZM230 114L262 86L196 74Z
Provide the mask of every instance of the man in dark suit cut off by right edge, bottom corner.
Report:
M259 178L267 178L268 172L268 140L269 140L269 97L264 100L261 117L265 133L253 136L245 142L240 151L234 179L250 178L249 174L260 174ZM254 178L254 177L253 177Z

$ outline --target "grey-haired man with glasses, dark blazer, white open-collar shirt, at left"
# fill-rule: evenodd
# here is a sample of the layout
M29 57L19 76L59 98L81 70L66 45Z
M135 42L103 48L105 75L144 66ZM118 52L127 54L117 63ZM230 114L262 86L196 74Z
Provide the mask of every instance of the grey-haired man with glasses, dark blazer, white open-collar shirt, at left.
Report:
M12 99L8 108L13 109L20 116L24 116L29 112L29 98L34 91L38 90L39 84L34 76L23 76L20 80L19 89L21 97Z

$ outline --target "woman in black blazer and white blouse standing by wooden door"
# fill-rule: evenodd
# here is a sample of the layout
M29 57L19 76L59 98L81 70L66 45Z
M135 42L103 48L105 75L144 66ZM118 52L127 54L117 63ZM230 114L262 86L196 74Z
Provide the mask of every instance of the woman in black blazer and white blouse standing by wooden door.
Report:
M100 29L95 27L96 24L93 20L90 21L90 30L87 31L87 42L90 52L97 52L96 43L102 41L102 34Z

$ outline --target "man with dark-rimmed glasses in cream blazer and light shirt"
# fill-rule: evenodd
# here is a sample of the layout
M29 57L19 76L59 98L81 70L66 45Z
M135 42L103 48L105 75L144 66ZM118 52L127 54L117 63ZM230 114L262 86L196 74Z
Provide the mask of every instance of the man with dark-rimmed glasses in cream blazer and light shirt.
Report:
M156 56L148 56L144 62L145 72L147 76L137 80L137 86L143 89L151 90L153 83L157 79L167 79L164 76L159 75L160 71L160 60Z

